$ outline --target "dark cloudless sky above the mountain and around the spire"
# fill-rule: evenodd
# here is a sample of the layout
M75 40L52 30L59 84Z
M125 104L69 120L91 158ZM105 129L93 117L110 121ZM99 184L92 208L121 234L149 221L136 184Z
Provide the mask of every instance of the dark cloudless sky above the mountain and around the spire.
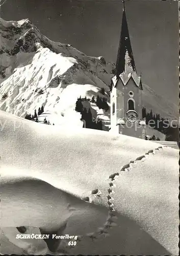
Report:
M125 2L125 10L137 73L142 72L143 82L157 93L177 103L177 2L131 0ZM54 41L116 61L121 0L7 0L1 13L6 20L29 18Z

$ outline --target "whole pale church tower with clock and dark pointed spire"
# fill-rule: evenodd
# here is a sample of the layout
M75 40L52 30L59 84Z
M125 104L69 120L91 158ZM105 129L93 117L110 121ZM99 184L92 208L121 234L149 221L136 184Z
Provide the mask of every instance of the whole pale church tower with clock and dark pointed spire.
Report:
M136 66L128 33L124 0L120 43L115 75L111 80L111 129L115 134L137 138L145 137L145 121L142 120L142 80Z

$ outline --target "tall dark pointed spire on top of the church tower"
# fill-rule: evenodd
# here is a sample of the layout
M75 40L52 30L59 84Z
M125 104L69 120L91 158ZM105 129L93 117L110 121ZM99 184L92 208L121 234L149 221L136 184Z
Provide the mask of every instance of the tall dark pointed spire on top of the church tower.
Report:
M128 33L127 20L125 15L124 0L123 13L122 13L122 24L121 24L121 35L120 43L116 61L116 75L119 76L121 73L136 72L135 61L133 57L133 50L131 47L130 34Z

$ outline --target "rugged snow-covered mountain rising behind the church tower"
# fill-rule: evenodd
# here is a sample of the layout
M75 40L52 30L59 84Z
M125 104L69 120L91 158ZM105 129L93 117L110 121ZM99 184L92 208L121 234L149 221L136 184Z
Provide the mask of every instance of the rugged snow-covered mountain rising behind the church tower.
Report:
M115 68L104 57L90 57L70 45L43 36L28 19L6 22L0 19L0 109L24 117L43 105L51 123L82 126L75 112L78 97L92 99L105 89L108 95ZM150 86L150 84L149 84ZM102 95L100 95L102 96ZM93 116L110 122L109 111L90 102ZM167 102L144 84L143 105L169 119L178 116L178 106Z

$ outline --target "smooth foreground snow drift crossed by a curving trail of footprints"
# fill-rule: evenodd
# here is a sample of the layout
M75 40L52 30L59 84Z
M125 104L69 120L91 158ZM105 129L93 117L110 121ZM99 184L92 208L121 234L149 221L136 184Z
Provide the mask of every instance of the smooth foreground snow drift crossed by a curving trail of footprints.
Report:
M16 244L14 229L25 226L81 236L74 248L58 241L55 254L178 254L178 150L104 131L42 129L3 111L0 120L2 253L48 251L33 240Z

